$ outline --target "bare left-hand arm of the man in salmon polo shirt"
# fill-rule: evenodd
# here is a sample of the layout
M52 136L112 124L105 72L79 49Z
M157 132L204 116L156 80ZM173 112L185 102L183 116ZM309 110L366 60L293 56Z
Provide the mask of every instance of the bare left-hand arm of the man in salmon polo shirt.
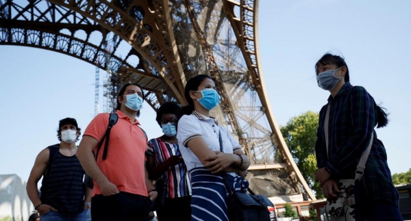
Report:
M99 185L103 196L118 194L119 189L105 177L97 165L95 156L92 154L92 150L97 144L98 141L95 138L90 135L84 135L77 150L77 158L80 164L82 164L84 171Z

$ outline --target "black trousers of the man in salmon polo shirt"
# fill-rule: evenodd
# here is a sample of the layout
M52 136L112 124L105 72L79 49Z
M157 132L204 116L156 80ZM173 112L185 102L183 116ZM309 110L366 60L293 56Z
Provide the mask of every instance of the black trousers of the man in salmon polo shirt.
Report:
M111 196L95 195L91 198L92 221L147 220L151 200L147 196L120 192Z

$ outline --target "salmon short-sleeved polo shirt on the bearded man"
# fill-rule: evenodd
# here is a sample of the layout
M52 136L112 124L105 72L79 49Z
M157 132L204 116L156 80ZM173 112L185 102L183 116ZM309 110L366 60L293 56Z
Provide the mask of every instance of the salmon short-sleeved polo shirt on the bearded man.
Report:
M119 116L116 124L110 131L107 158L102 159L105 141L101 145L97 165L105 177L119 188L120 192L148 196L145 184L145 152L147 151L147 138L140 128L138 120L134 123L130 118L117 110ZM110 114L98 114L84 135L89 135L100 142L108 126ZM97 151L97 146L94 151ZM92 196L101 194L100 187L94 182Z

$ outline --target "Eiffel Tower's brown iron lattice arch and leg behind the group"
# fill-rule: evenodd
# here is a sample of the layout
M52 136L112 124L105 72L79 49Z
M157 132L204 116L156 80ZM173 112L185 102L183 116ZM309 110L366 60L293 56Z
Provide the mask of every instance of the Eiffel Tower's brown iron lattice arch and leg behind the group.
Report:
M212 114L240 141L251 173L290 187L277 195L316 199L267 98L258 0L0 0L0 44L64 53L107 70L109 107L127 82L142 86L153 109L166 101L186 105L186 81L210 75L221 95Z

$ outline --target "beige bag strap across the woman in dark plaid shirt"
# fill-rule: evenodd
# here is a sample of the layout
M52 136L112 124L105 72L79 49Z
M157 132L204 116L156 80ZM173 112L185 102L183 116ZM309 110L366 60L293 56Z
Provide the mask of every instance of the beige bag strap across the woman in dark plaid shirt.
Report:
M327 157L328 157L328 124L329 124L329 109L331 108L331 103L328 103L327 112L325 113L325 120L324 120L324 134L325 134L325 146L327 148ZM364 174L366 160L369 157L371 146L373 146L374 140L374 132L371 133L371 139L369 142L369 146L362 152L360 162L358 162L357 170L356 170L356 178L355 180L360 180L362 175Z

